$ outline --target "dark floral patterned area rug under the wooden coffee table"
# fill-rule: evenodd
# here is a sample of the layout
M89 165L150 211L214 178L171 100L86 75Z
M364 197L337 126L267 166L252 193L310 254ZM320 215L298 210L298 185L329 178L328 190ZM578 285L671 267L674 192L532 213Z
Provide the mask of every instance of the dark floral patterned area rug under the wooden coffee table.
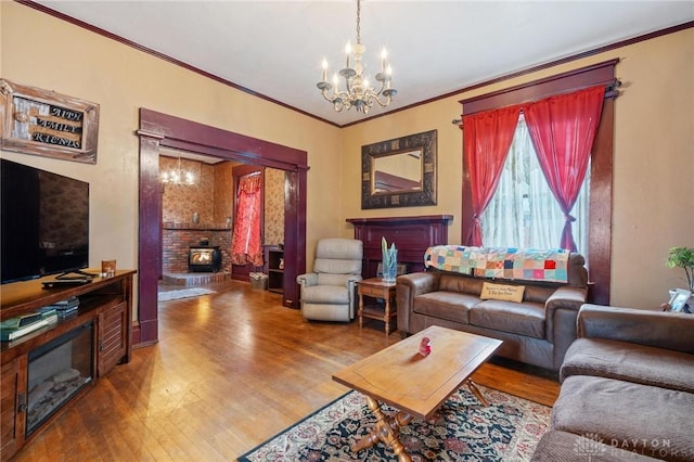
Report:
M479 386L483 406L466 387L428 421L413 419L400 441L415 462L527 461L548 428L551 408ZM384 407L387 412L395 412ZM352 453L373 428L363 395L350 392L239 458L250 461L394 461L383 442Z

